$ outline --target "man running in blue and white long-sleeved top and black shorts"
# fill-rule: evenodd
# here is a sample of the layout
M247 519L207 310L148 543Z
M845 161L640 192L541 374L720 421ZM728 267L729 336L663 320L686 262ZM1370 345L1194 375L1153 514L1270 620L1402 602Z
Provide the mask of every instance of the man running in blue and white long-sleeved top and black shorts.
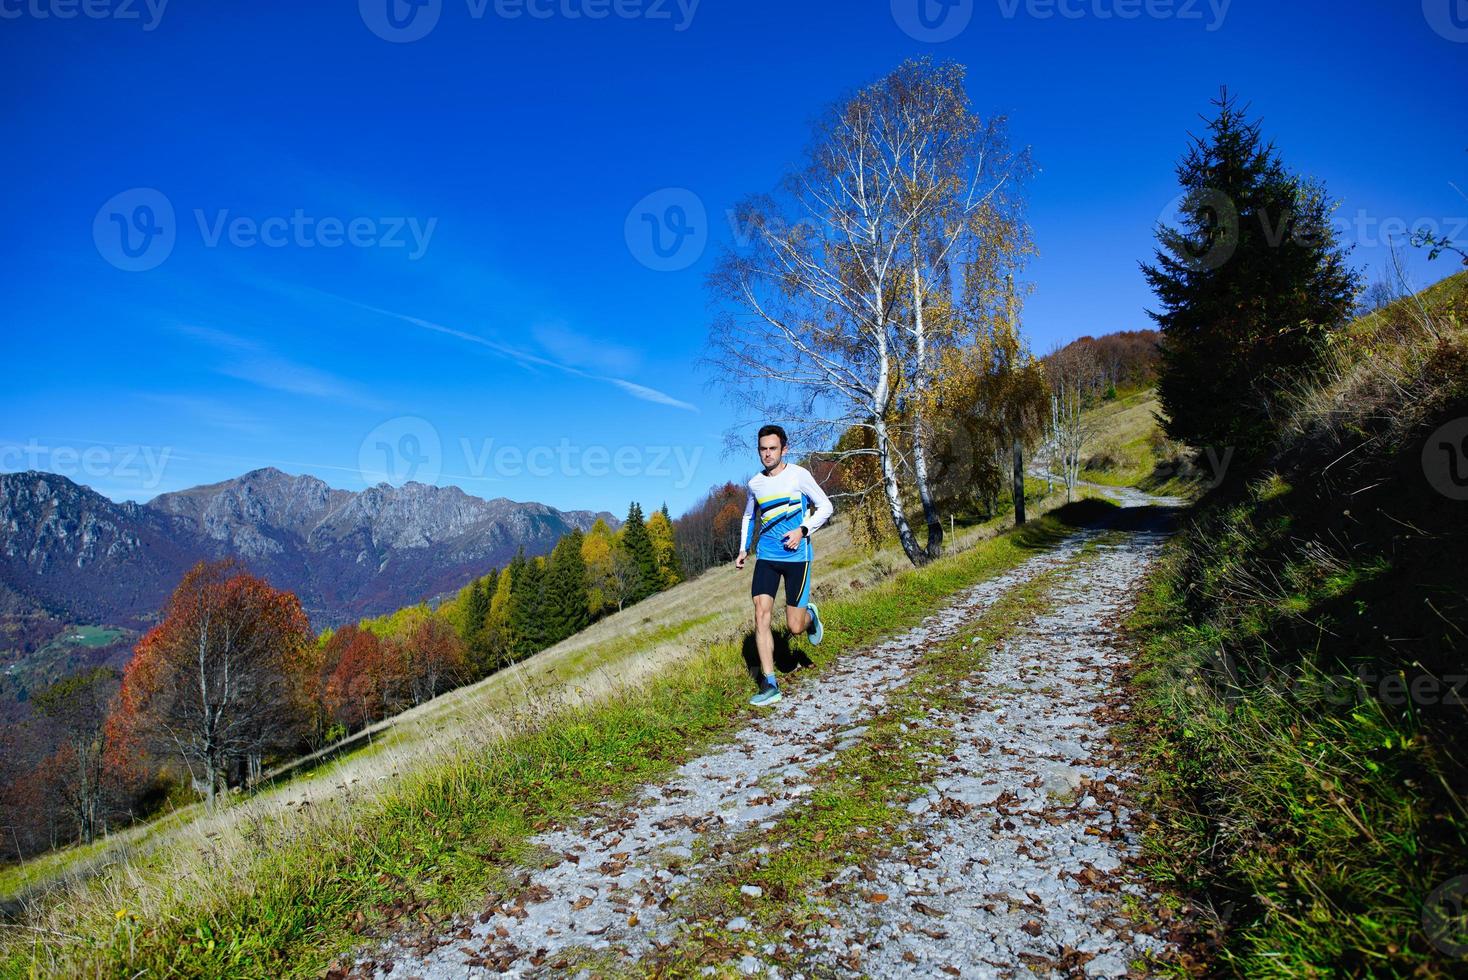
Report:
M821 643L821 610L810 601L810 534L831 519L831 499L804 467L785 462L785 430L765 425L759 430L759 461L763 469L749 481L744 521L740 524L740 553L734 568L744 568L749 549L755 547L755 646L759 650L760 685L750 704L780 700L775 679L775 637L769 619L775 609L775 590L785 581L785 625L790 634L809 634ZM807 508L816 512L806 519ZM750 524L755 524L753 537Z

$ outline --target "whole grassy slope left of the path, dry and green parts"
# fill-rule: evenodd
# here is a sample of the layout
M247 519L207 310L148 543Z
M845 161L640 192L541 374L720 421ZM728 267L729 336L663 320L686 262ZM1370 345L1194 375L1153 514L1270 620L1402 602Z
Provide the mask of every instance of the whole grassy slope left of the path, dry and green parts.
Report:
M954 555L913 572L897 550L863 557L832 521L815 544L815 594L843 625L816 669L1060 533L1006 522L960 522ZM0 891L29 908L23 929L0 933L0 974L305 974L364 930L506 888L534 860L523 845L534 829L665 772L744 717L747 610L749 569L711 569L213 814L185 807L12 867Z

